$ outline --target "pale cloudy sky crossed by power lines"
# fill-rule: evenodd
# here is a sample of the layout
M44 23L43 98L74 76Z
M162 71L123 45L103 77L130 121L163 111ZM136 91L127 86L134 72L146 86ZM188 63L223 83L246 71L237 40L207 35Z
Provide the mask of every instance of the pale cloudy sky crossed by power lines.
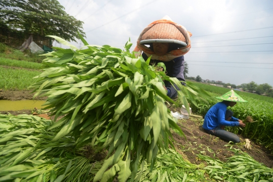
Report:
M59 0L84 22L89 44L124 49L142 30L168 15L193 35L185 57L188 76L240 85L273 86L272 0ZM78 48L83 44L71 42ZM56 47L65 48L59 43Z

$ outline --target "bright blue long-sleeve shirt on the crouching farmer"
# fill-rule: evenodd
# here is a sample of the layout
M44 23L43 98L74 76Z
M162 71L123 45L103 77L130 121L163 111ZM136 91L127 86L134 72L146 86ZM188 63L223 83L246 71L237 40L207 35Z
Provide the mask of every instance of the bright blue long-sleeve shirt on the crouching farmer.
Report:
M212 106L208 110L208 112L204 118L203 128L207 129L207 130L211 130L211 129L214 129L220 125L239 126L239 121L238 121L239 119L238 118L232 117L231 121L226 121L224 119L225 111L226 111L227 107L228 106L222 102L219 102L219 103L215 104L214 106Z

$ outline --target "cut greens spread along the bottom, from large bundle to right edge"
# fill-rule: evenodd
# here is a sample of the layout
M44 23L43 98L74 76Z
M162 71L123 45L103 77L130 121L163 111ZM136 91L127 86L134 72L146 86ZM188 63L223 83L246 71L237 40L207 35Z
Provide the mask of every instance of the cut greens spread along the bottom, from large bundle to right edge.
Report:
M177 152L158 154L154 169L145 163L139 181L271 181L273 169L255 161L239 149L228 161L197 154L200 164L193 164ZM205 166L206 163L206 166ZM131 181L131 180L128 180Z

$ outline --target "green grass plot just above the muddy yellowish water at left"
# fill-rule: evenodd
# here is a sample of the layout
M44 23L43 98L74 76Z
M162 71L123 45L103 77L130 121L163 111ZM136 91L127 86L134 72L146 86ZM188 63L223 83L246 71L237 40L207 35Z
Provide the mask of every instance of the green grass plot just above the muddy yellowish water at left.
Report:
M26 90L35 82L32 78L40 73L40 71L0 67L0 89Z

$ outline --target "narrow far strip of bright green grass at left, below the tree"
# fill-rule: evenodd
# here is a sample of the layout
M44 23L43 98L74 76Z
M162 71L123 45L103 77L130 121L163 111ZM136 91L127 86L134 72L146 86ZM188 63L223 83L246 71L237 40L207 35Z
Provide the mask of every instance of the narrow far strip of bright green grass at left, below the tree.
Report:
M1 58L1 57L0 57L0 65L35 69L35 70L38 70L41 67L41 64L39 63L33 63L28 61L18 61L18 60Z

